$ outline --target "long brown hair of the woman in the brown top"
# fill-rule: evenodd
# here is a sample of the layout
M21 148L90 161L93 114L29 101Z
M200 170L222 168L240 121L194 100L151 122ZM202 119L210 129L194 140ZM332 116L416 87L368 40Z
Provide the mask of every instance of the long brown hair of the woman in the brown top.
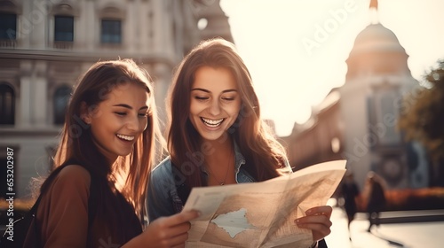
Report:
M109 165L92 142L91 128L81 119L81 105L86 103L88 108L93 109L107 99L107 94L112 89L124 83L136 83L147 90L150 95L150 112L147 114L147 128L134 144L133 151L127 156L119 157L115 165ZM117 180L117 173L125 172L127 177L121 193L133 205L138 216L145 214L147 184L155 163L155 144L162 139L157 125L154 97L149 75L131 59L103 61L92 65L77 83L67 107L54 167L74 159L111 182ZM113 168L120 168L121 171ZM44 183L42 190L45 187L47 185Z

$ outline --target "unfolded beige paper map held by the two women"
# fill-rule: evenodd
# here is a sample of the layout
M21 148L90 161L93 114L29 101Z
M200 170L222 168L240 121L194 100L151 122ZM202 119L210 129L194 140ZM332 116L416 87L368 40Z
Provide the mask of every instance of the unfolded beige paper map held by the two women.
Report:
M265 182L193 188L184 210L198 210L186 247L308 247L312 232L294 220L326 205L345 160L317 164Z

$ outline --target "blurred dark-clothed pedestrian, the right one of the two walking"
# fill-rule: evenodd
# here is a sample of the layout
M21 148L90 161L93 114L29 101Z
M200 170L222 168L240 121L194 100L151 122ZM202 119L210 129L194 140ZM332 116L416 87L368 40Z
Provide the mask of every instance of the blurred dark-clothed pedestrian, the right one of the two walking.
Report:
M367 213L369 214L369 232L373 225L379 226L379 213L385 211L385 183L383 179L373 171L367 174L366 186L369 187Z

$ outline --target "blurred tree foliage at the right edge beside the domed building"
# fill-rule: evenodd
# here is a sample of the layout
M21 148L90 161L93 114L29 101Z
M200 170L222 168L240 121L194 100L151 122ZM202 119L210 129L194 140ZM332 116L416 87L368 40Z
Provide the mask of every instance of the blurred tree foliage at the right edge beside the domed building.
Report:
M424 75L424 86L408 94L398 127L408 141L422 143L433 162L444 161L444 59Z

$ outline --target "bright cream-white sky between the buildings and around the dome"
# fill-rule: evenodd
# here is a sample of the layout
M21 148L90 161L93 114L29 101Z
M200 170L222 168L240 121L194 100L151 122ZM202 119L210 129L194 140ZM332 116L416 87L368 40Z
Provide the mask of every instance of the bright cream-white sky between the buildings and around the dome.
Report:
M221 0L234 43L250 69L265 119L278 136L304 123L313 105L345 82L356 35L370 23L369 0ZM444 58L444 1L380 0L379 21L407 51L420 80Z

